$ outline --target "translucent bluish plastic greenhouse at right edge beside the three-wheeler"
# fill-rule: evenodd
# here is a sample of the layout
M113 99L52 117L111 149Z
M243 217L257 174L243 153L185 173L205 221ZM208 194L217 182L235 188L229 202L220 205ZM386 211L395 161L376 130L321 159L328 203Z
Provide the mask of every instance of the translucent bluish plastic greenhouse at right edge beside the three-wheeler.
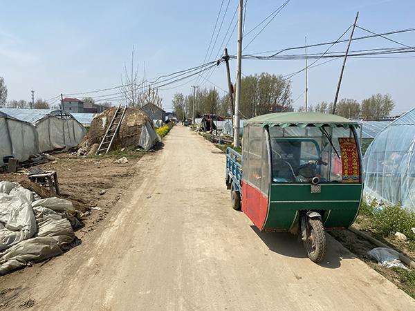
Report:
M415 109L385 127L363 160L365 194L415 209Z

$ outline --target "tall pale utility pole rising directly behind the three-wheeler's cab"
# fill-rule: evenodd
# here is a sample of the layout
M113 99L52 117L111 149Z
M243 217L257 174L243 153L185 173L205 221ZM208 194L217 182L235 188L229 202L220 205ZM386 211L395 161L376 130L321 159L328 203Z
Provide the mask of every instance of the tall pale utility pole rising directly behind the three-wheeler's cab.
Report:
M242 23L243 23L243 0L239 0L239 21L238 21L238 50L237 50L237 92L235 96L234 125L234 147L239 144L239 106L241 104L241 73L242 73Z

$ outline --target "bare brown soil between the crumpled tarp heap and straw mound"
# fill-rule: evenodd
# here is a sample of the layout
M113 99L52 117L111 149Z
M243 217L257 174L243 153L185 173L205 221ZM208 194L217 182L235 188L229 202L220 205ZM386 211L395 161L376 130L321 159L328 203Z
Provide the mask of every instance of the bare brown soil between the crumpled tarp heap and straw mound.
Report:
M59 153L53 158L55 160L36 167L57 171L60 197L79 202L77 209L88 212L82 219L84 227L76 232L77 238L82 240L105 218L129 187L131 178L136 175L139 157L129 157L125 164L113 163L119 158L115 156L80 158ZM21 173L0 173L0 180L27 182L27 173L33 168L22 169Z

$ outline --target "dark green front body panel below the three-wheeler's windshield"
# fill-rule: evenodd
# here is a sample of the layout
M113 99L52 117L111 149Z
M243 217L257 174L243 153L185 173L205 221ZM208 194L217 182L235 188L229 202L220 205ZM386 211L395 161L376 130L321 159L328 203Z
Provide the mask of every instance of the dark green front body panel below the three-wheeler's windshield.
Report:
M358 213L362 184L320 184L320 194L311 194L310 184L273 184L268 217L263 229L290 229L297 211L324 211L325 227L349 227Z

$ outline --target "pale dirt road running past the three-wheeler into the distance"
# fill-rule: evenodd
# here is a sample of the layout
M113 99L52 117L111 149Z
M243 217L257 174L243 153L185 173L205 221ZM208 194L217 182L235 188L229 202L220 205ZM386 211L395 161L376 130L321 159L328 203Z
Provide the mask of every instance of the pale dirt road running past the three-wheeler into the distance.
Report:
M212 144L174 127L105 224L36 277L6 281L34 310L415 308L333 238L316 265L295 236L257 232L230 207L224 165Z

